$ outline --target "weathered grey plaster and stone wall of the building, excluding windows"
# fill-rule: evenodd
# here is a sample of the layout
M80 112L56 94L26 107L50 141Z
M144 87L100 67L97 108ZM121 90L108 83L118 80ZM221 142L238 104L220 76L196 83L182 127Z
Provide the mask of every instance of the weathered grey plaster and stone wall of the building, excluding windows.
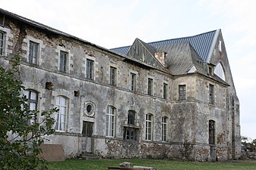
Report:
M226 160L239 157L239 101L224 48L221 54L213 54L211 63L223 62L230 87L197 73L172 76L164 70L143 66L136 61L124 61L123 57L102 48L26 24L20 25L14 20L7 19L5 24L3 30L8 32L8 39L6 56L1 57L1 64L8 66L8 60L14 55L23 57L21 79L25 88L39 93L38 109L55 107L57 96L68 99L66 130L47 137L47 143L64 146L66 157L82 153L83 121L88 121L94 123L92 153L98 156L185 157L207 161L210 154L209 120L216 122L214 147L217 158ZM30 41L39 44L36 64L28 63ZM217 51L218 47L215 48ZM67 52L66 73L58 71L60 51ZM86 79L86 59L94 61L93 79ZM109 85L110 66L117 68L116 86ZM130 73L136 74L136 91L130 91ZM152 95L147 94L148 78L153 79ZM52 88L46 88L46 82L51 82ZM163 98L164 83L168 85L167 99ZM209 84L214 85L214 104L209 104ZM186 85L186 100L179 100L179 85ZM92 116L86 114L85 106L88 103L94 107ZM113 138L105 134L108 106L117 110ZM128 110L136 112L139 137L136 141L123 140ZM151 141L145 140L145 115L148 113L153 116ZM162 116L167 117L167 141L164 142L161 141ZM232 143L232 138L235 138L235 143Z

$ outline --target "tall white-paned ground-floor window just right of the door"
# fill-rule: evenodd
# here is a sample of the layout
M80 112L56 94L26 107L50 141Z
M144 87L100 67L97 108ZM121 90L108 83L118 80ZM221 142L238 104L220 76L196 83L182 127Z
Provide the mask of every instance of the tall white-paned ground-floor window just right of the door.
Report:
M106 113L106 136L114 137L114 107L108 107Z

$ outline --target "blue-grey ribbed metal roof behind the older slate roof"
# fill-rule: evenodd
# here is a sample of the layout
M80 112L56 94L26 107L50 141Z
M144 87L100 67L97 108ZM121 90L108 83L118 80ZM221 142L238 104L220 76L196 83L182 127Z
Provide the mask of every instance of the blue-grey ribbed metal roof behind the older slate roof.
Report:
M168 48L169 45L181 43L181 42L189 42L195 51L199 54L202 60L208 61L209 57L211 57L211 52L213 50L213 45L216 41L216 36L218 33L218 29L210 32L204 32L198 34L196 36L188 36L178 39L167 39L158 42L148 42L148 45L155 47L158 51L161 49ZM120 48L112 48L111 51L114 51L118 54L126 55L130 49L130 46L120 47Z

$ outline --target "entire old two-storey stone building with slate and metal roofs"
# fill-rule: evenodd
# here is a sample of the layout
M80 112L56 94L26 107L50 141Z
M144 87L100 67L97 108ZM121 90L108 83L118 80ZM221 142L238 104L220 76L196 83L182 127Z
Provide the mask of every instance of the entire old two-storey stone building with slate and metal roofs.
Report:
M1 65L15 55L31 110L58 107L45 143L67 157L240 156L239 99L220 29L106 49L0 9Z

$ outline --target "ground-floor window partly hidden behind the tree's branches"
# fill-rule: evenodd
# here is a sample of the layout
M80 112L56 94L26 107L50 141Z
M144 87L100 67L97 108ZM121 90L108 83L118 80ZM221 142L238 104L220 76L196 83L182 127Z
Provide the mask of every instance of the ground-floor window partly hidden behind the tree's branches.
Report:
M37 92L33 90L24 91L24 95L27 97L27 105L30 107L30 110L37 110ZM33 125L36 122L35 118L30 119L30 125Z

